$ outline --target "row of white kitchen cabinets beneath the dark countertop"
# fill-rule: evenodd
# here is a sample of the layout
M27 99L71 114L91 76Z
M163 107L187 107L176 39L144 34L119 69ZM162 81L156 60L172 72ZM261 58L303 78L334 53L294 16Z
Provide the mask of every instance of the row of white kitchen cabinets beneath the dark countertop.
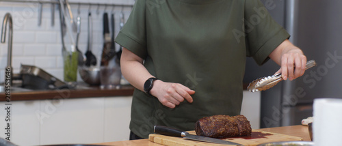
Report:
M116 96L13 101L11 141L51 145L128 140L131 100L131 96ZM0 108L4 106L0 102ZM4 119L0 125L5 125Z

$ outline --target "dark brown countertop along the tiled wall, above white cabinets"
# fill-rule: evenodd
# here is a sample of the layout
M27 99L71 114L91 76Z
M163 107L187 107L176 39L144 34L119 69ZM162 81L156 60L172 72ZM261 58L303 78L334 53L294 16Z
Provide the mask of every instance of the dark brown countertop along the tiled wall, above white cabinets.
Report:
M55 98L92 98L92 97L112 97L112 96L132 96L134 88L131 85L122 86L120 89L100 89L99 87L89 87L81 85L77 89L59 89L44 91L22 91L12 92L11 101L20 100L47 100ZM0 93L0 102L6 101L5 93Z

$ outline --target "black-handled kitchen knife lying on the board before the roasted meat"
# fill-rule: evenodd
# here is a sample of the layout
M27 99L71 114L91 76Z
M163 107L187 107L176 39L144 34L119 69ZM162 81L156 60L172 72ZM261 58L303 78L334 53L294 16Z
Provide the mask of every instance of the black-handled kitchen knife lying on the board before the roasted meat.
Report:
M155 133L157 134L183 137L183 138L191 139L194 141L204 141L207 143L219 143L219 144L224 144L224 145L241 145L239 143L233 143L231 141L224 141L218 138L211 138L211 137L206 137L206 136L198 136L198 135L189 134L188 132L181 131L175 128L169 128L166 126L155 126L154 130L155 130Z

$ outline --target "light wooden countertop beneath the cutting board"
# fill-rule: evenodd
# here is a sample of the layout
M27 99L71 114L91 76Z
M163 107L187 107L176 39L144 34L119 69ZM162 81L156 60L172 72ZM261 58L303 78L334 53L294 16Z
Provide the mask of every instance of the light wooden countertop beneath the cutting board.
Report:
M308 126L285 126L278 128L263 128L259 129L266 132L274 132L279 134L287 134L303 138L303 141L311 141L308 135ZM161 146L157 143L148 141L148 139L133 140L133 141L116 141L109 143L97 143L97 145L141 145L141 146Z

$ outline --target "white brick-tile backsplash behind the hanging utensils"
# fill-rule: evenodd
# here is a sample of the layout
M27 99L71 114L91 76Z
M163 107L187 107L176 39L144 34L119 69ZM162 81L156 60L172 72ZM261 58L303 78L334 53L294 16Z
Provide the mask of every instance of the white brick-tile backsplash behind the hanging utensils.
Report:
M134 0L69 0L75 3L94 3L89 5L71 5L73 15L81 16L81 33L79 37L79 50L86 53L88 40L88 12L92 13L93 20L93 36L92 36L92 52L99 60L103 47L103 13L111 12L115 15L115 35L118 34L119 15L123 10L125 20L127 20L131 7L122 9L121 7L97 6L97 3L107 4L124 4L133 5ZM80 14L77 14L79 8ZM55 24L51 25L51 5L44 4L42 10L42 25L38 26L38 3L11 3L0 2L0 22L7 12L12 15L14 34L12 48L12 67L13 72L20 71L21 63L25 65L36 65L38 68L53 74L57 78L63 78L63 61L62 61L62 40L60 35L60 16L57 8L55 8ZM97 14L98 12L98 14ZM2 27L2 24L0 24ZM110 29L111 30L111 29ZM8 33L8 32L7 32ZM76 35L74 34L74 37ZM76 39L76 37L75 37ZM70 36L68 33L64 36L66 47L70 48ZM7 65L8 51L8 34L6 35L5 44L0 44L0 83L3 83L5 66ZM118 46L118 45L117 45ZM78 78L78 80L81 80Z

